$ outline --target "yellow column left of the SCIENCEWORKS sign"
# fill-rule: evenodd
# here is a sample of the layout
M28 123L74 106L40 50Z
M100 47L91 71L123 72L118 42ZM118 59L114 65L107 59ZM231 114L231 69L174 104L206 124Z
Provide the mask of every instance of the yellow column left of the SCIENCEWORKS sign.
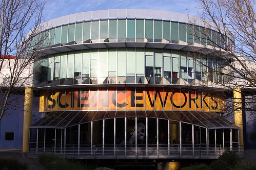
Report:
M25 88L25 99L24 99L22 152L28 152L28 145L29 145L28 127L31 125L31 122L32 122L32 107L33 107L33 89L32 89L32 87L26 87Z

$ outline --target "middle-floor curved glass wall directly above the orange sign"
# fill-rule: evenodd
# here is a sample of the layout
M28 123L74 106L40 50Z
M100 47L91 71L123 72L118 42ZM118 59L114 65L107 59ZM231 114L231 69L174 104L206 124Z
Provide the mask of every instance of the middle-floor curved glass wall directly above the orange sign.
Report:
M146 84L161 84L163 79L170 84L176 84L179 78L188 83L195 79L215 83L222 80L221 74L218 74L222 66L217 58L158 48L70 51L50 55L41 63L42 73L47 75L48 82L76 79L77 83L81 84L87 78L108 78L105 83ZM45 76L42 77L42 82L45 79ZM92 83L98 82L103 83Z

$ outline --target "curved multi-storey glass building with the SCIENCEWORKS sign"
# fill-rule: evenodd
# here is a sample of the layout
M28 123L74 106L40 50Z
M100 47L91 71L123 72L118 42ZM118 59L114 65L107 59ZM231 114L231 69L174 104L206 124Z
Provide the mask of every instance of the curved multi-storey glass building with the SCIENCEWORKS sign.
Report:
M29 127L31 155L157 162L243 152L241 127L222 116L222 62L211 55L233 48L231 35L141 9L77 13L44 28L34 43L46 37L35 77L45 117Z

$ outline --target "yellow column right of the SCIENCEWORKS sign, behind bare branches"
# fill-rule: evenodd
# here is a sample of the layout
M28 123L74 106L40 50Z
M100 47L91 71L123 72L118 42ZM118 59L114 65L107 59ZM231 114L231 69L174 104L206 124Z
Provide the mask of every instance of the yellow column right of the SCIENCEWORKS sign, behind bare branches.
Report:
M234 94L234 124L241 128L239 130L239 137L240 137L239 144L244 145L241 88L235 88L233 90L233 94Z

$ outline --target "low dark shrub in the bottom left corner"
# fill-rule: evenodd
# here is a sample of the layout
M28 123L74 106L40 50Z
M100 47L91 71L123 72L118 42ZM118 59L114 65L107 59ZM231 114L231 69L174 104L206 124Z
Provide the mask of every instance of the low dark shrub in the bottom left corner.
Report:
M28 165L26 163L21 163L16 159L1 157L0 158L0 169L8 170L27 170Z

